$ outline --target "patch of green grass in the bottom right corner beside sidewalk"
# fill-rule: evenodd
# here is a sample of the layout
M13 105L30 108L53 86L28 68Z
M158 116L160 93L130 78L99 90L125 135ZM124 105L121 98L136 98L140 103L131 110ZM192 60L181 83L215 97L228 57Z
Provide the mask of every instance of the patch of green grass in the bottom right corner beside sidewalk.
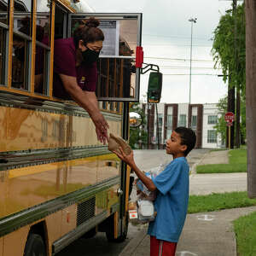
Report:
M237 255L256 255L256 212L242 216L234 221Z

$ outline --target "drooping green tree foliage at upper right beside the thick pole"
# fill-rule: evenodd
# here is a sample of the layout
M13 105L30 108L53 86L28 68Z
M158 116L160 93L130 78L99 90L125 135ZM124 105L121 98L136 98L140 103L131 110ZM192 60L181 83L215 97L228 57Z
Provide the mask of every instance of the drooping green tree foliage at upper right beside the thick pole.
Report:
M241 88L242 96L245 96L246 86L244 15L244 4L237 7L236 15L233 15L231 9L226 11L226 15L220 18L218 26L213 32L212 44L214 67L222 69L224 82L228 81L231 86Z

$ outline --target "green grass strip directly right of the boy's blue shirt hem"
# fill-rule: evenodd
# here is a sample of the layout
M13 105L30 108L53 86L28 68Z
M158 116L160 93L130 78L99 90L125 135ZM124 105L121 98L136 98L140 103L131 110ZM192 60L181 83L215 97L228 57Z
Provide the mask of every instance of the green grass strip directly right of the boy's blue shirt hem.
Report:
M211 195L190 195L189 213L212 212L223 209L256 206L256 199L249 199L247 192L231 192ZM255 254L256 255L256 254Z

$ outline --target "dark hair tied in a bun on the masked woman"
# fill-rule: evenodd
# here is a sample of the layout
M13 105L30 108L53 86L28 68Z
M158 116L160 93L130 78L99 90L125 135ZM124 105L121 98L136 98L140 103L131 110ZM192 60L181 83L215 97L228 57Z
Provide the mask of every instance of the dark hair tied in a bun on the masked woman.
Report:
M100 28L100 21L95 18L86 20L84 25L79 27L73 32L73 41L76 49L79 48L79 40L83 40L84 44L94 43L96 41L104 41L104 34Z

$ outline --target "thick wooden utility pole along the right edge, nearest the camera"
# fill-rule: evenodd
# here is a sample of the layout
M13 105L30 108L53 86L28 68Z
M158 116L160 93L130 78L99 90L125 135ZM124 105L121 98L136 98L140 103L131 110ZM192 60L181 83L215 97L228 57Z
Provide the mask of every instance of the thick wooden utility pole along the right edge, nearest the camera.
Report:
M256 1L246 0L247 191L256 197Z

